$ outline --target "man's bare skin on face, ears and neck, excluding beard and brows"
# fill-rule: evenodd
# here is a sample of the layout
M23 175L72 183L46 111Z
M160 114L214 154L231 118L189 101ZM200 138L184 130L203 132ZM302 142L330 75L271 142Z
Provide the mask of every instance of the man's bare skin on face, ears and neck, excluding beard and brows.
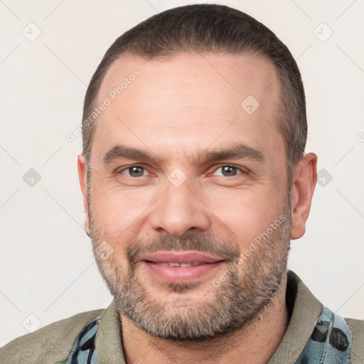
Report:
M287 203L287 160L277 132L279 84L274 65L257 55L179 53L146 62L123 55L107 71L96 105L113 87L138 68L141 75L105 109L97 120L90 156L90 208L97 237L112 245L113 259L127 265L132 240L159 235L181 237L188 232L229 240L244 252L260 232L277 220ZM271 85L271 87L269 87ZM259 108L247 114L240 107L247 95ZM227 158L198 161L198 152L227 149L244 143L264 161ZM102 161L122 144L147 151L156 161ZM304 235L316 185L315 154L305 154L294 170L291 188L291 239ZM132 177L127 167L146 168ZM222 166L235 166L224 176ZM179 168L187 177L174 186L168 176ZM80 186L87 208L85 156L78 157ZM118 173L117 173L118 172ZM90 233L90 221L85 220ZM137 267L147 293L166 306L179 300L198 303L213 299L213 278L198 287L171 293L165 284ZM243 272L244 266L240 267ZM137 328L124 316L123 345L128 363L267 363L282 341L288 317L285 284L269 304L241 331L205 342L166 341ZM264 336L262 336L264 332Z

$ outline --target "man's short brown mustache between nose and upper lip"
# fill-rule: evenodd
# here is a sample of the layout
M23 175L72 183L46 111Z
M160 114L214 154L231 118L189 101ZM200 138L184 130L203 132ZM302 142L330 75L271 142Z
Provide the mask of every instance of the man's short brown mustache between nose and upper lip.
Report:
M133 240L127 248L127 259L134 267L140 258L146 253L159 250L195 250L221 259L234 262L240 257L240 250L229 240L219 240L210 235L183 235L173 237L171 235L159 235L152 239Z

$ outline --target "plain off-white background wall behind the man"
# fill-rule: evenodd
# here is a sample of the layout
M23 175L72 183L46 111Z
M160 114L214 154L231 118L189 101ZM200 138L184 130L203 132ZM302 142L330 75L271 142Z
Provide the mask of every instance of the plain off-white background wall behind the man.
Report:
M65 136L114 39L198 2L0 1L0 346L112 300L83 229L81 137ZM262 21L297 60L321 184L289 267L330 309L364 319L364 2L215 2ZM23 180L31 168L41 176L34 186Z

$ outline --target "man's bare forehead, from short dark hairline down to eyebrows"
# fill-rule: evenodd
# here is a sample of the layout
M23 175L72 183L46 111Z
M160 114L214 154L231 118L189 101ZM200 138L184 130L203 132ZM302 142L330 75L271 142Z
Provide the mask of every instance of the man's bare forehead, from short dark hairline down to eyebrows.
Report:
M186 145L205 149L231 138L274 147L282 142L277 80L274 65L251 54L122 55L95 100L96 106L107 100L107 107L97 118L93 144L97 153L125 140L181 154Z

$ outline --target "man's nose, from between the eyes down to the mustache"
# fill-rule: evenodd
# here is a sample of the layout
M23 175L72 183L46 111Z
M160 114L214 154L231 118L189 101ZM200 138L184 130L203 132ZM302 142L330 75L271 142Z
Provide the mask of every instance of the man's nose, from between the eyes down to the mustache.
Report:
M153 205L149 222L154 231L179 237L188 230L202 232L210 227L211 212L188 181L181 186L167 181L164 193Z

